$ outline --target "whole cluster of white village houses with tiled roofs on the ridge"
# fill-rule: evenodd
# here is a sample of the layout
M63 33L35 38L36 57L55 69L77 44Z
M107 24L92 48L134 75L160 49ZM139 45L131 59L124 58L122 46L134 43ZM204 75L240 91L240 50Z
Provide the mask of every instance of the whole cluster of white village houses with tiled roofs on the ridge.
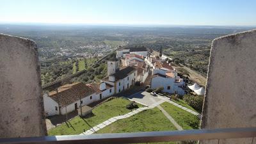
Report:
M204 95L204 88L198 84L186 86L168 59L161 51L156 55L146 47L128 47L116 51L115 60L108 61L108 76L100 83L65 84L52 92L45 92L45 115L65 115L82 109L88 111L92 109L88 108L88 104L141 84L152 89L163 88L164 93L185 95L189 88L197 95Z

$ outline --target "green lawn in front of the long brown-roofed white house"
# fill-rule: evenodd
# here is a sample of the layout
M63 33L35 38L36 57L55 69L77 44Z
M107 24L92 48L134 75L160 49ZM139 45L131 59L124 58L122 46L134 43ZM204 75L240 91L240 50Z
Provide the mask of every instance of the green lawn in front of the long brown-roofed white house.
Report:
M126 109L125 106L131 101L123 98L109 100L104 102L97 108L93 109L93 116L90 118L80 118L76 116L70 120L72 127L68 127L67 124L62 124L58 127L50 129L48 135L68 135L68 134L81 134L83 130L91 129L93 126L108 120L113 116L124 115L129 113L131 110ZM138 104L139 107L142 105Z

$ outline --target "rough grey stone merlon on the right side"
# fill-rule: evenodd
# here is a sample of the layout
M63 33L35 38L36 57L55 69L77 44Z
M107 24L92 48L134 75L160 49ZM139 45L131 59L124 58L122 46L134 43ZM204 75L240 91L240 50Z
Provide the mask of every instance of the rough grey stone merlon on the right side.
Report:
M202 129L256 127L256 30L212 42ZM221 143L252 143L252 138ZM207 141L201 141L207 143Z

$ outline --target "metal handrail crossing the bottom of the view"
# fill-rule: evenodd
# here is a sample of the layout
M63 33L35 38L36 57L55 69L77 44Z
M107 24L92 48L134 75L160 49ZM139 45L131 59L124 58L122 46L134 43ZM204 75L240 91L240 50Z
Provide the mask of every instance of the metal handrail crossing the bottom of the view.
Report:
M154 131L115 134L91 134L70 136L45 136L31 138L1 138L2 143L148 143L163 141L212 140L229 138L254 138L256 127L228 129L193 129L186 131Z

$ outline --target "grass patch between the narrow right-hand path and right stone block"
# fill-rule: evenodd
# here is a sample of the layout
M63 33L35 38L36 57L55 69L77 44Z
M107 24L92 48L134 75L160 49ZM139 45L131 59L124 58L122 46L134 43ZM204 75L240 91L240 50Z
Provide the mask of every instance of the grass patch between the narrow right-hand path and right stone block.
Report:
M161 106L183 129L199 129L199 120L195 115L168 102L164 102Z

